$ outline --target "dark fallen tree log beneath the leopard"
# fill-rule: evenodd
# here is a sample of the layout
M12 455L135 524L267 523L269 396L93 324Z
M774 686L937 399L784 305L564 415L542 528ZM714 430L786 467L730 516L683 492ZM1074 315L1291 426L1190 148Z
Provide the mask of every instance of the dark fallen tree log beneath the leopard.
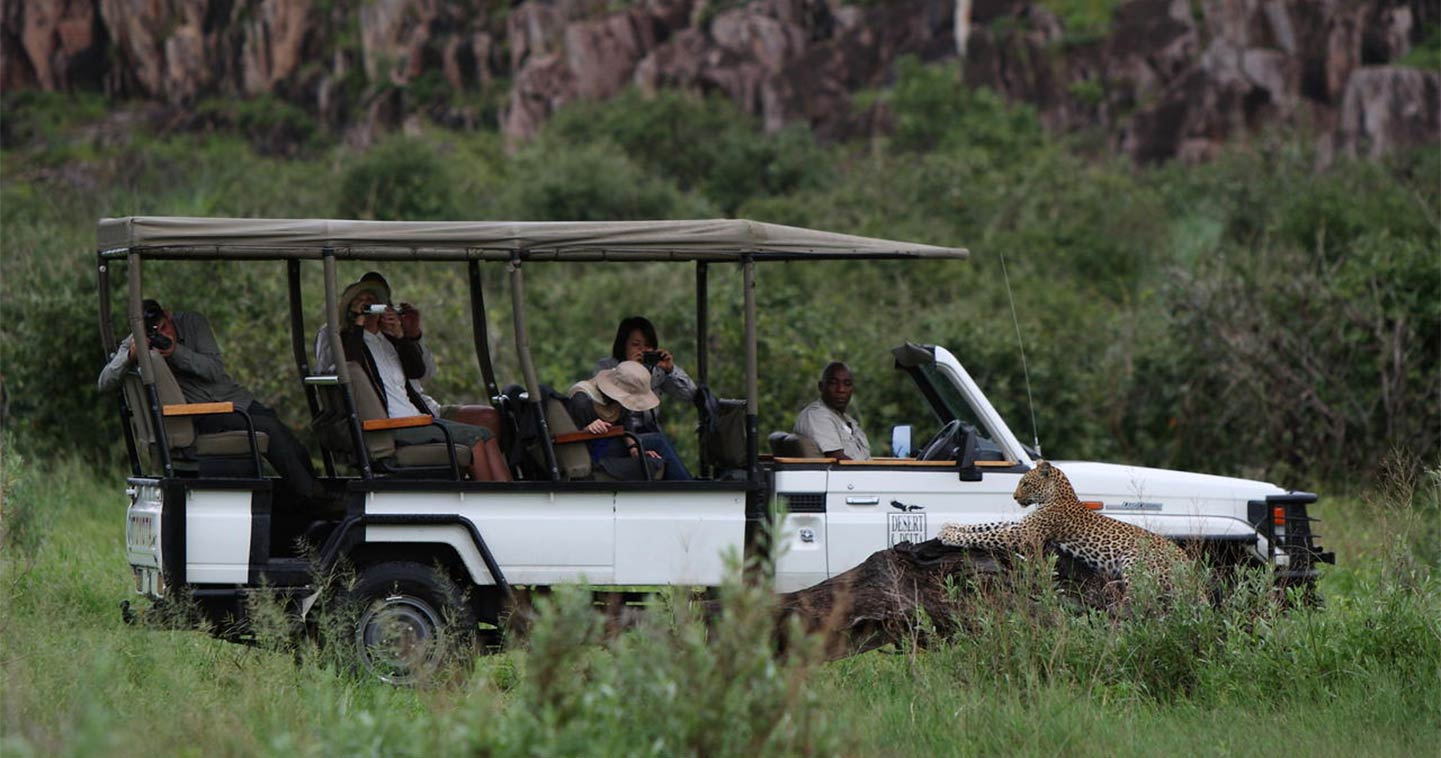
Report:
M1055 555L1055 579L1068 601L1114 608L1117 595L1104 576ZM954 636L964 631L974 602L996 602L1007 595L1014 599L1019 561L1010 553L953 548L934 539L876 550L844 574L781 595L781 644L793 621L807 634L824 636L830 660L886 644L924 644L931 637Z

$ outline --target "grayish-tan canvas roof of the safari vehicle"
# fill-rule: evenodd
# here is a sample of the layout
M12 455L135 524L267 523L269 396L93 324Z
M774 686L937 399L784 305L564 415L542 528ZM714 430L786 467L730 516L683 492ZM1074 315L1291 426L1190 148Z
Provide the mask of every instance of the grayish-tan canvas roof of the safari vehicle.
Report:
M147 258L706 261L965 258L942 248L745 219L451 222L333 219L101 219L98 249Z

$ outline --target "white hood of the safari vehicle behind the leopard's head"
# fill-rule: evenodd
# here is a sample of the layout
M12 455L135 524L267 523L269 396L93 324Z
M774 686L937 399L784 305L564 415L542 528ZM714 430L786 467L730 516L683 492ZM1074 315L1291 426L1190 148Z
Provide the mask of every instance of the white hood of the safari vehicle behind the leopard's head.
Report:
M1052 461L1082 500L1258 500L1285 490L1268 481L1092 461Z

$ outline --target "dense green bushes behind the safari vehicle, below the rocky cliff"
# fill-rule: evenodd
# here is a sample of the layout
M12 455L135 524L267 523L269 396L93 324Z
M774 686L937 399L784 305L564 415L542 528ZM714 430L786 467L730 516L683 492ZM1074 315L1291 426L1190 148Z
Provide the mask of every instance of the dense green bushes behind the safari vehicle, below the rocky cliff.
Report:
M92 389L105 357L92 255L102 216L733 215L973 254L762 267L762 431L790 428L814 396L817 370L844 359L875 441L893 424L919 424L922 434L927 414L888 353L914 340L955 352L1029 441L1004 262L1036 427L1053 458L1297 487L1368 478L1395 450L1437 460L1441 151L1317 169L1306 134L1264 134L1209 164L1136 167L1087 135L1048 137L1033 112L963 88L950 69L902 62L895 86L869 97L888 101L893 137L821 146L801 127L762 134L723 101L631 92L566 108L510 151L494 133L441 128L356 151L295 127L308 135L298 157L269 156L265 140L251 144L238 128L154 135L140 115L108 115L98 101L12 97L0 154L9 422L45 454L114 460L122 450L114 401ZM236 124L271 114L304 125L304 114L281 105L231 108ZM464 269L385 274L425 313L441 359L432 393L480 399ZM519 370L501 267L486 277L504 383ZM725 267L712 274L712 383L731 396L742 391L738 280ZM323 317L318 265L305 281L313 334ZM690 267L536 265L529 281L543 382L586 376L631 313L650 316L695 367ZM282 264L153 265L147 291L206 313L232 373L305 427ZM692 455L693 419L689 408L669 412L672 437Z

